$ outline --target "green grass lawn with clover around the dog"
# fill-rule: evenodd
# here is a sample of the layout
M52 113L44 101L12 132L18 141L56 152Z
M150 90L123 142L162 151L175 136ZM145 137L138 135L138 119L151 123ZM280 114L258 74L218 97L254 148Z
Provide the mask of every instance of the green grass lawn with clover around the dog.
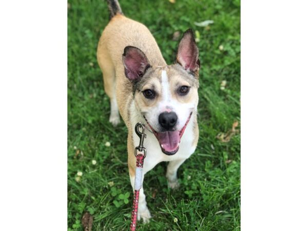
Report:
M166 163L144 182L152 220L138 230L240 230L240 134L229 142L217 135L240 122L240 3L208 0L120 1L126 16L145 24L168 64L175 60L175 31L199 31L200 139L179 169L181 187L168 189ZM213 20L209 27L194 22ZM108 23L106 2L70 0L68 8L68 230L128 230L132 190L127 168L127 129L108 123L96 48ZM219 49L220 48L220 49ZM221 82L226 80L224 90ZM106 146L106 142L110 146ZM92 160L97 164L93 165ZM83 173L78 176L78 171ZM128 203L127 203L128 199Z

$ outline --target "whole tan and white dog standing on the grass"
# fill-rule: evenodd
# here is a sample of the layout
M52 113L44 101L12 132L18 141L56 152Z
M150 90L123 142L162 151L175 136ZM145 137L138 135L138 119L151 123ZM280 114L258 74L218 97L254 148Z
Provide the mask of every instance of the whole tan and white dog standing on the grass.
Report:
M97 57L103 72L105 92L110 98L109 122L119 124L120 114L128 128L128 168L132 187L136 169L134 148L139 137L136 123L146 125L143 176L162 161L169 161L166 177L171 188L178 186L177 170L195 151L199 130L198 47L192 30L180 43L176 64L167 65L150 31L122 13L117 0L109 0L110 22L99 41ZM143 188L138 220L147 222Z

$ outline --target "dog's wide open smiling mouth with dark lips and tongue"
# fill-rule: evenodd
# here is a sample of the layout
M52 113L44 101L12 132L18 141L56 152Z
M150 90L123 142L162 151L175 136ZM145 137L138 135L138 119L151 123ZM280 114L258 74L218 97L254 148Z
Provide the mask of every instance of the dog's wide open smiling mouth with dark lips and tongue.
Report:
M149 124L145 116L143 115L145 121L155 134L155 137L157 138L160 147L162 149L162 152L164 152L166 155L175 155L180 147L181 137L184 134L185 128L190 120L192 112L190 112L189 117L184 125L184 127L179 131L164 131L164 132L158 132L152 128L152 126Z

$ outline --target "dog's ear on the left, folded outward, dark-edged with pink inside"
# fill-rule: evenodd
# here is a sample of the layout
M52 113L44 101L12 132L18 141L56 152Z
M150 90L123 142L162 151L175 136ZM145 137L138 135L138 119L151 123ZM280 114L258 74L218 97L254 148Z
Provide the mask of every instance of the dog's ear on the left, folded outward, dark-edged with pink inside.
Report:
M130 81L138 81L150 67L145 54L137 47L127 46L122 55L124 72Z

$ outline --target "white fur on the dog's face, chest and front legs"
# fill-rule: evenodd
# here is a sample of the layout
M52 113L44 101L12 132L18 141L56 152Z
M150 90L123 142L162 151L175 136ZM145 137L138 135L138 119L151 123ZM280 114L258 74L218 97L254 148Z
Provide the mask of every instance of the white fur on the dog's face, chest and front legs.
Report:
M166 71L162 71L162 101L157 107L151 109L150 112L146 113L146 117L151 126L157 126L158 116L161 112L166 110L166 106L172 107L172 111L175 111L178 115L178 128L179 130L185 125L190 112L196 113L197 105L194 104L181 104L178 101L171 98L169 89L168 77ZM138 122L147 124L141 113L137 110L134 101L130 105L130 123L131 127ZM151 116L150 116L151 115ZM157 121L157 122L154 122ZM155 128L154 128L155 129ZM192 120L190 120L186 126L185 132L181 138L181 143L178 152L175 155L168 156L162 152L160 144L155 135L145 130L146 139L144 139L144 147L146 147L147 155L144 159L142 181L144 175L162 161L170 161L167 167L166 177L168 179L168 185L171 188L177 188L179 186L177 179L177 170L180 165L194 153L196 146L192 146L194 143L194 126ZM133 132L133 145L136 147L139 145L139 137L136 132ZM131 186L134 187L134 178L130 177ZM139 195L139 209L138 209L138 220L142 218L144 222L148 222L151 218L150 211L147 208L143 186L141 184L140 195Z

